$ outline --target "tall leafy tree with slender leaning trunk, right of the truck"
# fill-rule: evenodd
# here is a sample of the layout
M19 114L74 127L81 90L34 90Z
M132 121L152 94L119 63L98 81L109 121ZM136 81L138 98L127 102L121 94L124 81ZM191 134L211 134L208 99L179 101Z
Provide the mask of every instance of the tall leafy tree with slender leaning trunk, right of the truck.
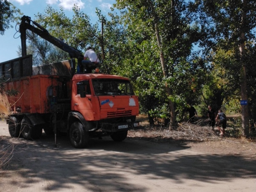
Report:
M134 38L129 42L133 42L133 47L136 47L133 49L136 50L137 54L133 54L136 60L134 59L130 64L133 64L134 68L134 63L138 63L138 58L141 57L139 58L141 63L138 64L141 67L136 66L136 69L139 68L139 72L142 73L143 70L150 71L149 75L143 73L143 75L138 76L140 79L145 79L144 82L148 77L148 82L144 85L149 85L151 83L149 80L152 80L151 88L159 94L158 98L165 97L162 101L167 102L169 106L169 128L175 125L174 104L179 98L176 92L181 90L179 86L174 84L183 84L179 78L184 80L186 78L185 73L187 74L183 67L191 69L189 71L192 72L190 77L204 68L204 66L202 68L200 65L196 66L200 63L200 59L198 62L197 59L189 60L193 43L198 41L200 35L197 25L193 25L192 12L186 9L188 5L186 1L176 0L125 0L117 1L115 5L123 11L123 25L127 26L129 34ZM143 54L144 56L142 56ZM160 64L159 67L158 63ZM164 82L165 94L161 91L163 90L162 82Z

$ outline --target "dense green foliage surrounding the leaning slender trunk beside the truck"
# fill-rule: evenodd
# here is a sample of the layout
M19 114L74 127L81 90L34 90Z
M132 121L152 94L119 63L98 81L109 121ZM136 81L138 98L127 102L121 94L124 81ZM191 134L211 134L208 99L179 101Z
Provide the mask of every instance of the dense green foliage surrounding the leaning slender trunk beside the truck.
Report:
M119 1L115 6L125 9L121 18L129 33L129 50L132 50L125 63L128 64L127 71L136 77L140 103L154 116L169 117L167 104L171 100L176 107L177 119L182 119L184 103L198 102L205 79L204 58L198 56L199 52L192 52L193 43L199 39L199 28L193 23L195 14L186 9L185 1ZM161 45L155 36L157 29ZM165 76L160 51L164 54ZM169 97L166 83L172 91Z

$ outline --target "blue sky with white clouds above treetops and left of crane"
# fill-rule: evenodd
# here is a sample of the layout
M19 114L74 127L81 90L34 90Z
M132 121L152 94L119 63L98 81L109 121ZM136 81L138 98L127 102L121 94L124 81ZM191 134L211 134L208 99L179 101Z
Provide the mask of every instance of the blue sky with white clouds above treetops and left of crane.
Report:
M59 10L62 7L65 11L66 16L72 17L73 5L76 4L80 7L80 10L83 13L86 13L90 19L91 23L95 23L98 18L95 14L95 8L99 8L103 15L108 14L110 12L110 7L113 7L113 4L116 2L115 0L9 0L12 4L14 4L20 11L34 20L34 15L38 13L44 13L47 5L52 6L54 9ZM16 33L15 25L16 23L12 23L13 28L10 28L5 31L5 34L0 35L0 63L14 59L18 57L17 51L18 46L21 45L20 42L20 33ZM17 29L19 27L17 26Z

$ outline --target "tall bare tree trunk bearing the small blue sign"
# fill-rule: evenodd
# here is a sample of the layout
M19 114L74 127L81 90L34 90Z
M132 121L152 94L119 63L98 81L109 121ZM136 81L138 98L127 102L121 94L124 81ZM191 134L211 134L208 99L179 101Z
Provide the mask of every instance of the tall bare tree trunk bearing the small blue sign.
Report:
M246 63L244 63L244 53L245 53L245 33L243 32L245 20L246 20L246 9L247 0L243 0L243 13L241 18L241 35L240 35L240 45L239 45L239 53L240 53L240 62L242 64L241 68L241 100L247 101L247 78L246 78ZM242 134L244 136L249 135L249 112L248 105L241 105L241 113L242 113Z

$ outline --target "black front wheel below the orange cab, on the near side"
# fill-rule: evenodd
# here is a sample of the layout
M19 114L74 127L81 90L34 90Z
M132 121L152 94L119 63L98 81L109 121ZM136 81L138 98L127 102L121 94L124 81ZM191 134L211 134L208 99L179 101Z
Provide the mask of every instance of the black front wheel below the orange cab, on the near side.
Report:
M89 143L89 133L85 130L82 123L76 121L70 126L69 138L73 147L84 148Z

